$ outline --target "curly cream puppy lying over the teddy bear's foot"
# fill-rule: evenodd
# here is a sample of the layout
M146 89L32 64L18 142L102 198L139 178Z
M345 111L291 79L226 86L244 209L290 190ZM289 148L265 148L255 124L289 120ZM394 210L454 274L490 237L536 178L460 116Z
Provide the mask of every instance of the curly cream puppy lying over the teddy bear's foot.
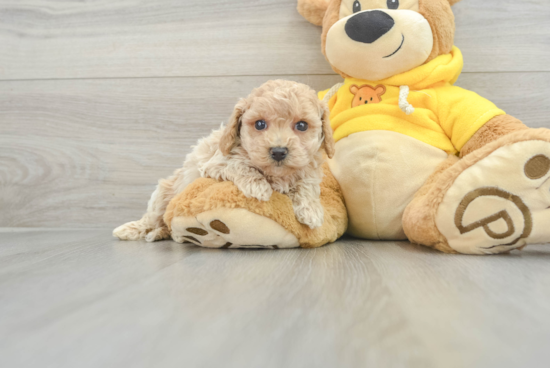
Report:
M160 180L141 220L113 231L123 240L168 239L168 203L200 177L232 181L249 198L267 201L273 191L292 200L296 218L314 229L323 224L321 165L334 155L329 111L306 85L269 81L241 99L227 126L199 140L183 168Z

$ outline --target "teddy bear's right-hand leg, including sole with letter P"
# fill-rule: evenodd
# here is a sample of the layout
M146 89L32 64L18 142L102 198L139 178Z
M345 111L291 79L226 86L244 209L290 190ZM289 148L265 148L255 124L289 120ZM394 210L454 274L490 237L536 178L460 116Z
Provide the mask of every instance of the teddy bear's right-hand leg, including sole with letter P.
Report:
M490 128L473 142L489 140ZM496 254L550 241L550 130L514 130L436 170L405 210L412 242Z

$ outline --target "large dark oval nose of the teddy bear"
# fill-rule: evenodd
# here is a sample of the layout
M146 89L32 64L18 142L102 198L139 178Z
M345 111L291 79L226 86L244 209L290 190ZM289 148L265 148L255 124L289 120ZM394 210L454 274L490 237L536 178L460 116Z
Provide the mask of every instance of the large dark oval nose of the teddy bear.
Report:
M357 42L373 43L395 25L393 18L380 10L357 13L346 22L346 33Z

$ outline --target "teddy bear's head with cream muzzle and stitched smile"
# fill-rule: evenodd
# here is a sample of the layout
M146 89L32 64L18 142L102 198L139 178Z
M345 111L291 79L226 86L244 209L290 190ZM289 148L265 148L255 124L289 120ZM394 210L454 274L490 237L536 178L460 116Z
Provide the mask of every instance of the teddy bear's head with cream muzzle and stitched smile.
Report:
M298 0L323 26L322 48L343 77L381 80L451 51L460 0Z

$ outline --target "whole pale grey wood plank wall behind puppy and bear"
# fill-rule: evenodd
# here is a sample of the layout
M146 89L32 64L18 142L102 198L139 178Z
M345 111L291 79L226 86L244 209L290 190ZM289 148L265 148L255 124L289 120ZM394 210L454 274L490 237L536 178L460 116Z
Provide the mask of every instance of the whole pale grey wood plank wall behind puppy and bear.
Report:
M295 0L0 0L0 227L111 227L268 79L340 80ZM549 127L550 4L463 0L458 85Z

